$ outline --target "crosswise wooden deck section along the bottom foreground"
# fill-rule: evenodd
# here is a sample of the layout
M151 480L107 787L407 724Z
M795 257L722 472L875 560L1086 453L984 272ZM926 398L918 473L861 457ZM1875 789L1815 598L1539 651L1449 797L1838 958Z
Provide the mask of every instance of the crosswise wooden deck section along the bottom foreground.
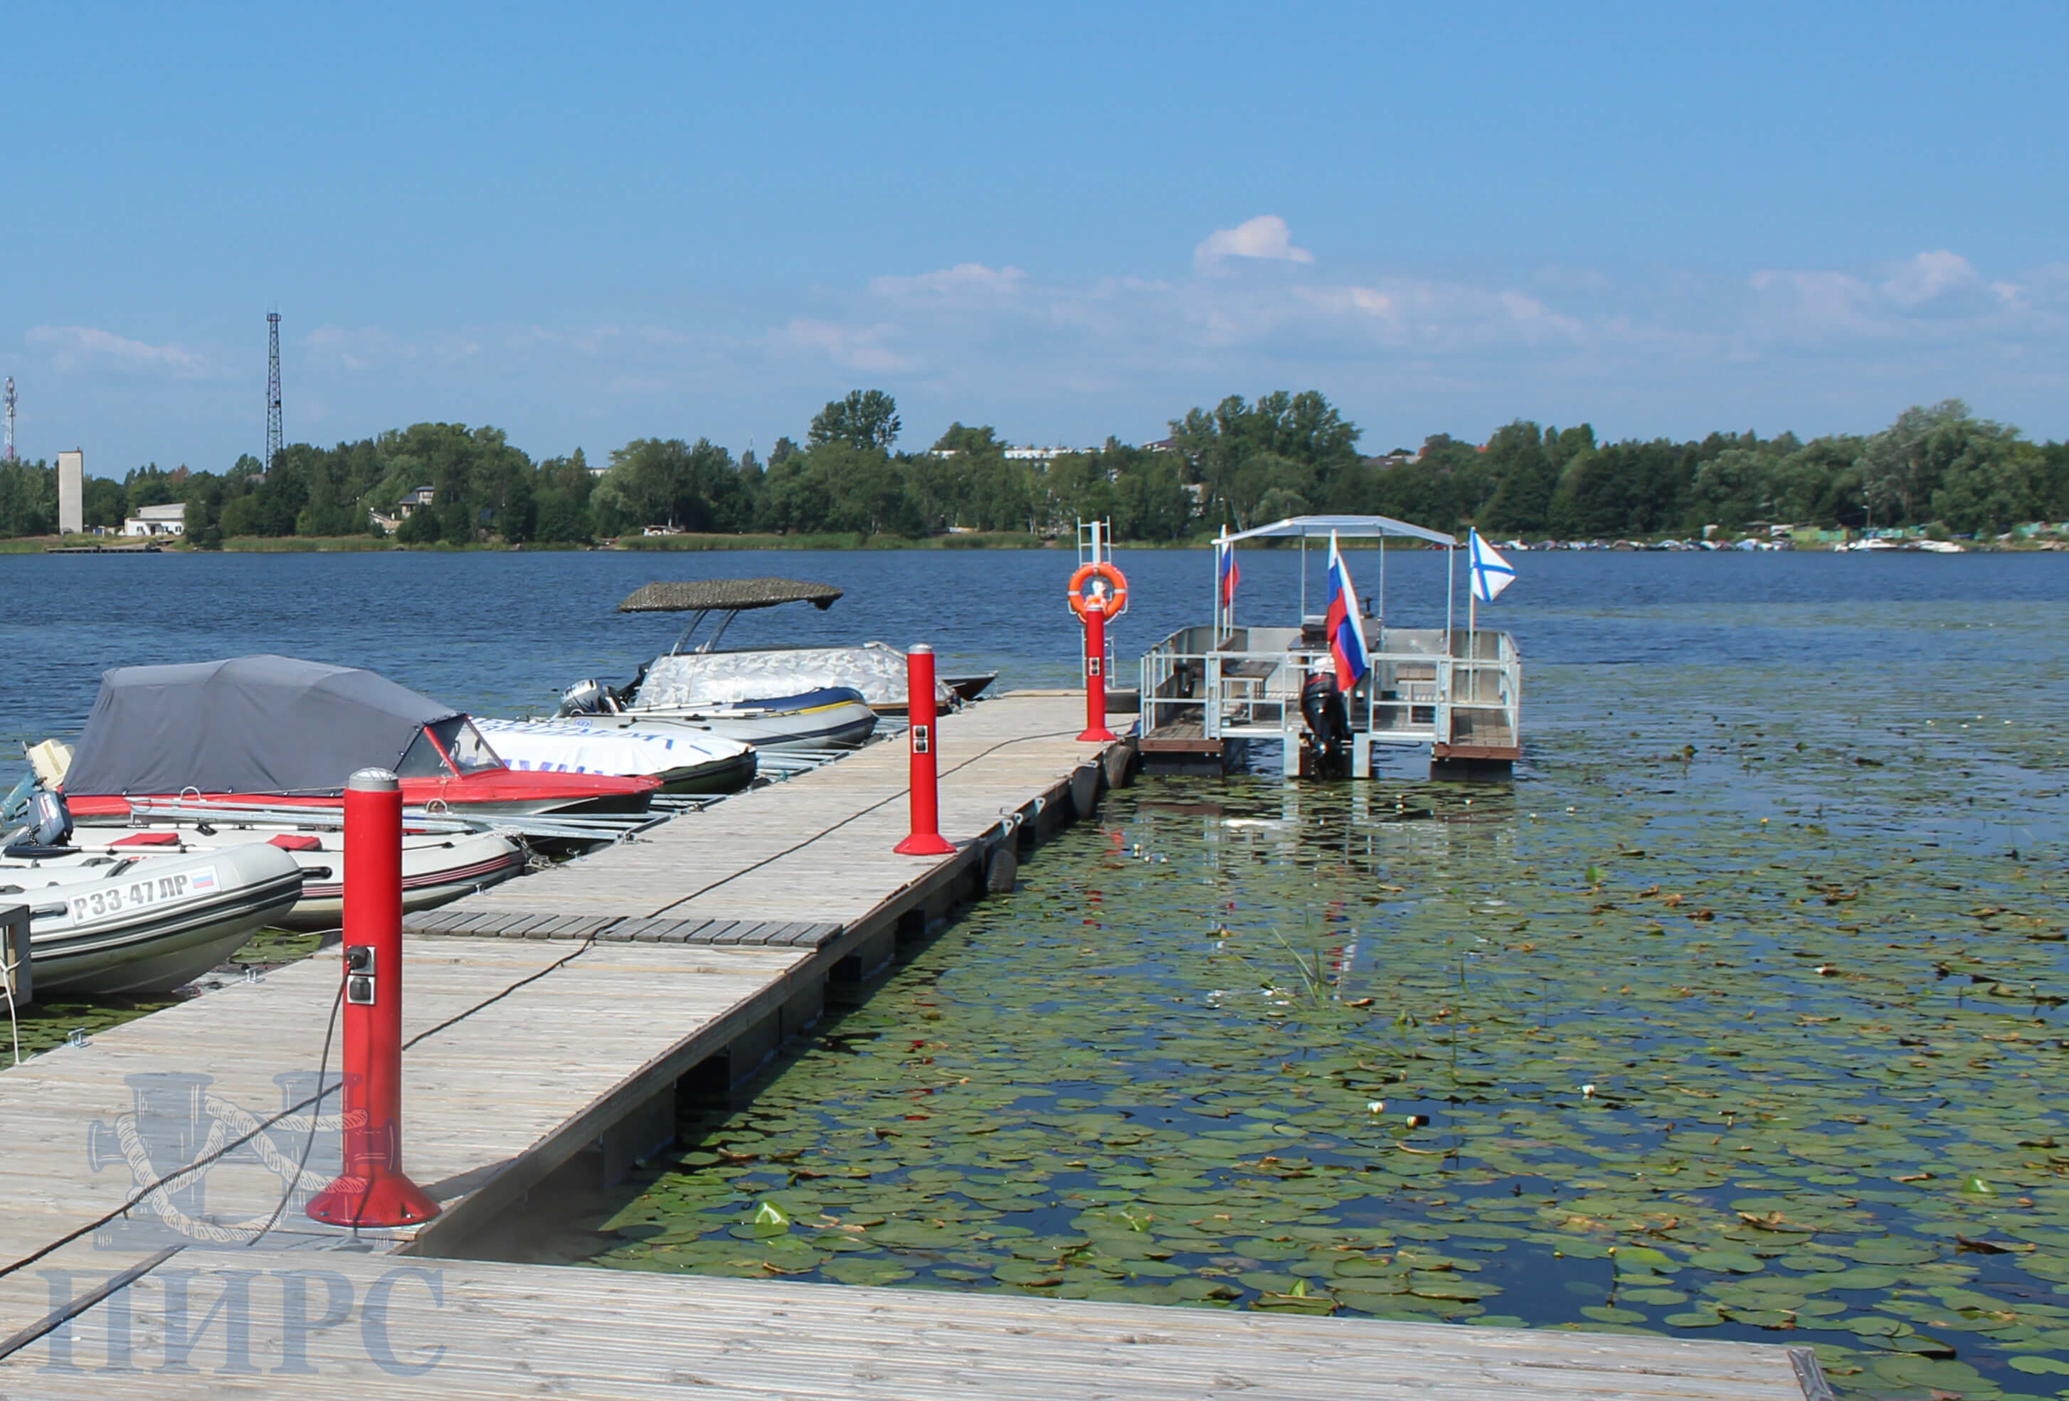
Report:
M168 1285L184 1293L170 1329ZM0 1362L0 1389L52 1401L290 1387L302 1401L1802 1397L1779 1347L283 1250L186 1252L132 1285L114 1320L132 1366L153 1368L168 1333L190 1337L226 1287L242 1291L248 1337L217 1322L186 1358L194 1372L97 1370L112 1322L95 1314L66 1341L79 1370L50 1368L46 1341ZM331 1324L283 1327L290 1287L304 1318ZM308 1372L281 1378L286 1347Z

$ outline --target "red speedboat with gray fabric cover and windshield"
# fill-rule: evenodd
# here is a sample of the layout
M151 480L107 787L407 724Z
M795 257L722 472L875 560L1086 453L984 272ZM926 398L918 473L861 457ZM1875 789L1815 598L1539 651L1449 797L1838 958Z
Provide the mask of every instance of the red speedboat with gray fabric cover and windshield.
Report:
M128 822L130 799L341 807L346 778L387 768L410 807L470 815L646 811L654 778L515 770L474 722L356 666L238 656L118 666L64 768L79 822Z

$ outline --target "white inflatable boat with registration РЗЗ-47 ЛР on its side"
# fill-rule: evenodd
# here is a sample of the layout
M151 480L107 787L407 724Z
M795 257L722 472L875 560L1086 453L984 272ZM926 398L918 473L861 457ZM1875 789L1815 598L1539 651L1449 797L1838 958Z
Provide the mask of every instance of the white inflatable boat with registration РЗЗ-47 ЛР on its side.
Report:
M29 906L37 1000L172 991L279 923L300 896L302 867L265 842L0 869L0 900Z

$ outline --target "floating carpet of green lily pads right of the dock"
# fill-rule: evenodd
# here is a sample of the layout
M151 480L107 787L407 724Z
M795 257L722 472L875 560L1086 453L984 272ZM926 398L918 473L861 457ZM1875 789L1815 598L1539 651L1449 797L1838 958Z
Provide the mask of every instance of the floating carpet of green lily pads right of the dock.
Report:
M1581 679L1548 670L1548 693ZM1628 681L1632 706L1676 716L1641 724L1686 718L1672 677ZM1773 741L1723 724L1686 776L1676 759L1678 793L1653 797L1583 708L1546 731L1531 819L1486 819L1483 793L1465 809L1444 784L1415 824L1372 822L1361 784L1200 786L1272 828L1148 803L1190 780L1111 795L1101 826L1167 863L1105 863L1099 832L1063 834L1020 894L917 950L751 1105L685 1120L677 1169L610 1217L598 1264L1794 1329L1786 1341L1823 1339L1862 1395L1980 1395L1982 1376L2019 1376L2007 1358L2069 1351L2050 1337L2069 1314L2034 1308L2069 1283L2069 1194L2050 1186L2069 1149L2042 1142L2069 1144L2069 1113L2038 1093L2063 1033L2032 1024L2063 1012L1988 995L2055 985L2059 948L2011 923L2055 896L2038 871L1972 855L1961 826L2011 817L2030 776L1970 768L1959 809L1920 764L1848 766L1823 791L1823 710L1750 677L1705 685L1746 687L1769 737L1810 741L1790 751L1788 793L1734 757ZM1775 822L1748 832L1748 801ZM1879 801L1897 805L1877 817ZM1599 890L1572 875L1589 865ZM1407 894L1368 902L1376 884ZM1968 917L1984 906L1999 915ZM1299 1004L1293 950L1332 979L1341 964L1330 1006ZM1343 1006L1359 997L1376 1006ZM788 1225L755 1235L763 1200Z

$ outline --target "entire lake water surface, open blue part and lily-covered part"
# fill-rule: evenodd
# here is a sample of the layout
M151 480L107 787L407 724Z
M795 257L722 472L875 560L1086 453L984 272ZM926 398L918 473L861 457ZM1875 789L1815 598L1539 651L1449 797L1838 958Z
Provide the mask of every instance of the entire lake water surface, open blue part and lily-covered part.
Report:
M484 712L739 642L1076 677L1066 553L0 559L21 685L277 650ZM1204 553L1121 559L1132 654ZM1144 780L540 1258L1815 1345L1850 1395L2069 1384L2069 563L1527 555L1512 784ZM1297 557L1243 561L1258 617ZM1353 555L1363 594L1374 555ZM1390 617L1442 617L1395 553Z

